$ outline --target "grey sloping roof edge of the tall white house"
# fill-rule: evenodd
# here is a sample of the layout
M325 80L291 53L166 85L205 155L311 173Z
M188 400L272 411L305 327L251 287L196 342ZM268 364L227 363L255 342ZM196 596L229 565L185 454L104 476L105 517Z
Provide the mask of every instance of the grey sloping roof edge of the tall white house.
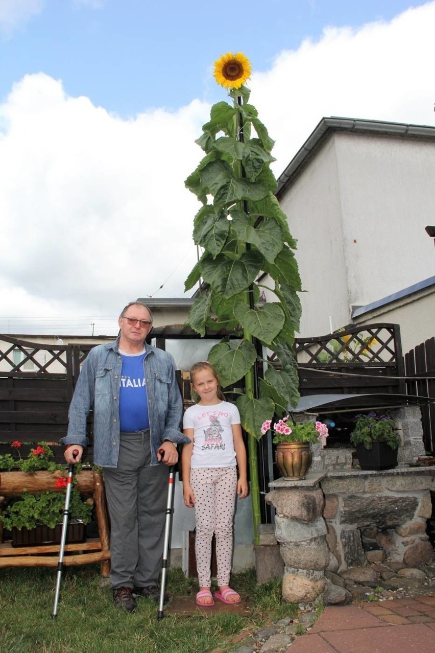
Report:
M293 178L301 172L311 157L323 143L336 131L350 133L382 134L387 136L412 136L413 138L435 138L435 127L430 125L407 125L381 120L361 120L357 118L322 118L314 131L308 136L301 149L295 154L284 172L278 177L277 197L284 193Z

